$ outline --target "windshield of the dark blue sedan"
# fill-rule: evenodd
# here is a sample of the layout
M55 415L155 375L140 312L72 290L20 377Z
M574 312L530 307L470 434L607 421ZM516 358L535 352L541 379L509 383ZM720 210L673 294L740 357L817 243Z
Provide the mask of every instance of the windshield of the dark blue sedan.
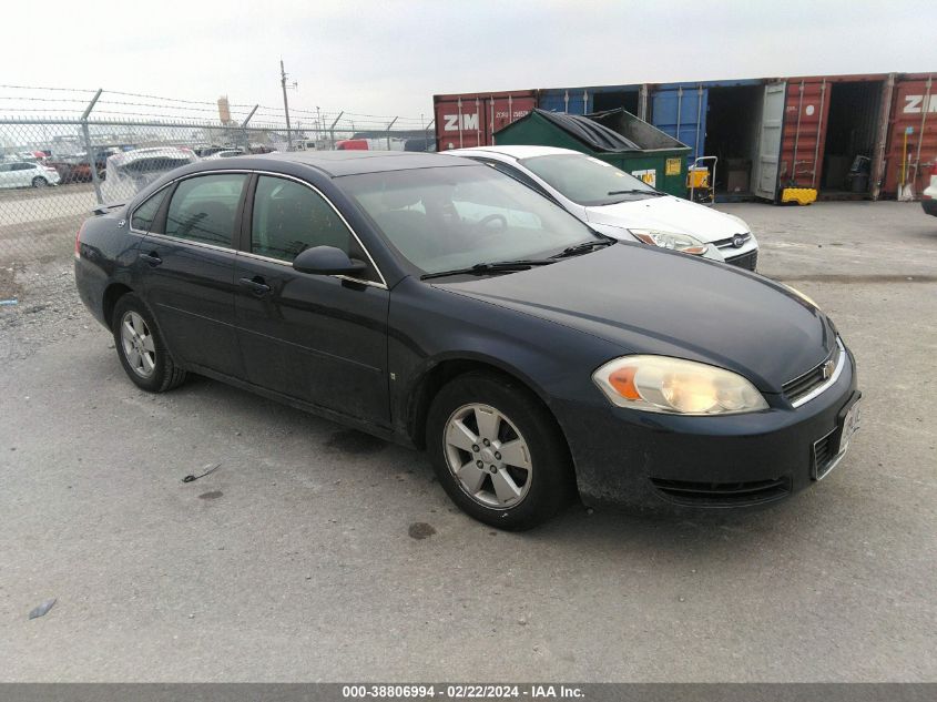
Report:
M542 260L603 241L542 195L487 166L349 175L339 184L425 274Z

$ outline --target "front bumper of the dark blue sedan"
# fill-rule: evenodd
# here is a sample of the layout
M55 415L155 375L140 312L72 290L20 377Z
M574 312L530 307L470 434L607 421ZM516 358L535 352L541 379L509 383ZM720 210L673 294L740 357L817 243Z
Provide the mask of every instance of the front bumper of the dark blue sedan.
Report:
M765 411L723 417L618 408L598 393L595 401L558 403L582 500L752 507L809 487L842 458L837 431L859 397L847 356L837 381L796 409L780 396Z

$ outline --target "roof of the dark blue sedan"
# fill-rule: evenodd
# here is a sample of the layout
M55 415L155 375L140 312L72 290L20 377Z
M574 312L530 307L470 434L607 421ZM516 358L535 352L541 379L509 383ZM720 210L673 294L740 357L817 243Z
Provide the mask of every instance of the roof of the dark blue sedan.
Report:
M342 176L379 171L408 171L440 166L471 165L465 159L413 151L288 151L226 160L230 167L248 160L283 161L313 166L327 175Z

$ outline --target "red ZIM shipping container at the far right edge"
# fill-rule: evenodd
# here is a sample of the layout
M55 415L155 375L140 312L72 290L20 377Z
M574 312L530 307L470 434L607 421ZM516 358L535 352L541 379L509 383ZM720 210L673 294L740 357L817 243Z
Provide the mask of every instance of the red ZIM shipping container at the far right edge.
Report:
M902 184L919 197L937 163L937 74L902 75L892 101L887 163L883 191L898 196ZM905 139L907 136L907 140Z

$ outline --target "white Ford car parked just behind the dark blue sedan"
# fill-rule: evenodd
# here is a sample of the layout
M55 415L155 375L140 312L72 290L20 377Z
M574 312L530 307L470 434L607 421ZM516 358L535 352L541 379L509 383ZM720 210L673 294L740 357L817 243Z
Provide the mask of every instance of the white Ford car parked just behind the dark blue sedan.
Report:
M447 154L486 163L550 197L592 228L754 271L758 242L745 222L654 190L569 149L480 146Z

